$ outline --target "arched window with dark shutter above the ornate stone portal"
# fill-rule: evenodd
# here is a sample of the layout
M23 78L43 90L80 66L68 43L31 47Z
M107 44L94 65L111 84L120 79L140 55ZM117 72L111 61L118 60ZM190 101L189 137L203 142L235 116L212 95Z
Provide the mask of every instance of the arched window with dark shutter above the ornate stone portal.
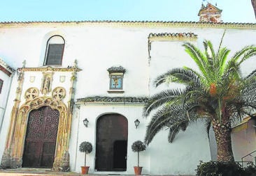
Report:
M62 65L64 45L65 40L60 35L54 35L49 38L43 65Z

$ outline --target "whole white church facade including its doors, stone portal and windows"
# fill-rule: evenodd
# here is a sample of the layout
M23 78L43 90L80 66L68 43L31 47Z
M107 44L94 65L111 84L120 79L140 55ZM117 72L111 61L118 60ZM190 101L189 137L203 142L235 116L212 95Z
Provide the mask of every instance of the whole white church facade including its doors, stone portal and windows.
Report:
M133 174L137 155L131 144L143 141L150 120L142 116L143 105L169 88L155 88L152 82L173 67L195 67L183 42L203 49L207 39L218 47L224 31L222 45L232 50L230 55L255 44L256 24L0 23L1 167L80 173L85 155L79 145L89 141L89 173ZM243 75L256 69L255 59L243 65ZM246 119L234 127L236 161L255 150L254 125L255 120ZM180 132L173 143L167 136L163 129L141 152L143 173L193 174L200 160L216 159L213 136L209 140L201 122Z

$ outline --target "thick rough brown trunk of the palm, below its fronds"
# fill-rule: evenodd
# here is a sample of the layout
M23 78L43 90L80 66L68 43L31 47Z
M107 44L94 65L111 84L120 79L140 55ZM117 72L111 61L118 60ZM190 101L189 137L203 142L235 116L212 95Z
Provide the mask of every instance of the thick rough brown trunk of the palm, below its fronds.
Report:
M218 120L213 120L213 131L217 143L217 160L234 161L230 122L220 123Z

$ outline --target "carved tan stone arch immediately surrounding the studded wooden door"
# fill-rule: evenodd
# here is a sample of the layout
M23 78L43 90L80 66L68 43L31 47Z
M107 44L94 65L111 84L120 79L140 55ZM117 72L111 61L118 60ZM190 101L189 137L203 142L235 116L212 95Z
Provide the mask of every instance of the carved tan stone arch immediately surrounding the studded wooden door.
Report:
M26 138L29 113L34 109L41 108L42 106L50 106L52 109L57 109L59 111L59 127L55 148L55 160L52 168L53 170L69 168L68 149L69 134L71 130L71 115L69 115L69 111L67 111L66 105L63 102L53 99L52 97L38 97L31 101L27 101L22 104L17 112L13 143L10 147L12 168L20 168L22 166L22 156L24 152L24 142Z

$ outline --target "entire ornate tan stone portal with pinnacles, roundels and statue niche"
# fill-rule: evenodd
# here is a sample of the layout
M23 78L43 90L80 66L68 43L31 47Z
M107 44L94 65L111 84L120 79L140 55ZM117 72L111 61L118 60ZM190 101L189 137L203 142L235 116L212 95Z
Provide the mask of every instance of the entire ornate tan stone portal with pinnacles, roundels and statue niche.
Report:
M1 160L1 168L20 168L22 167L22 155L24 152L24 142L27 131L27 121L29 113L42 106L50 106L51 109L59 111L59 127L57 131L57 141L55 147L55 159L52 166L53 170L69 170L69 139L71 133L71 119L73 110L73 90L76 81L76 72L80 71L75 65L69 68L26 68L17 70L18 87L16 98L14 100L13 110L10 117L10 128L8 131L6 148ZM24 82L24 72L43 71L43 80L41 83L41 96L38 88L28 88L24 91L25 102L20 106L22 95L22 86ZM45 72L46 71L46 72ZM63 102L66 97L66 90L62 87L56 87L52 90L52 75L54 72L71 72L71 87L69 90L68 101ZM52 90L52 92L51 92ZM51 96L46 96L51 92Z

